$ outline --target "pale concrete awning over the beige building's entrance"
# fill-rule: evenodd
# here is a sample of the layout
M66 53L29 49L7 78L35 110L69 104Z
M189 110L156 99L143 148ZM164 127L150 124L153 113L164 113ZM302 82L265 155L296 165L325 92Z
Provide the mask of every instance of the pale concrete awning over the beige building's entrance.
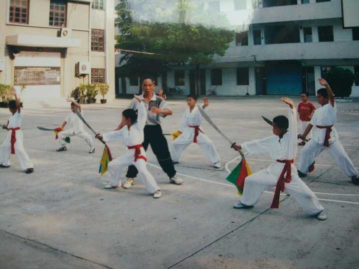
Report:
M44 35L15 34L6 36L6 45L46 48L79 47L80 39Z

